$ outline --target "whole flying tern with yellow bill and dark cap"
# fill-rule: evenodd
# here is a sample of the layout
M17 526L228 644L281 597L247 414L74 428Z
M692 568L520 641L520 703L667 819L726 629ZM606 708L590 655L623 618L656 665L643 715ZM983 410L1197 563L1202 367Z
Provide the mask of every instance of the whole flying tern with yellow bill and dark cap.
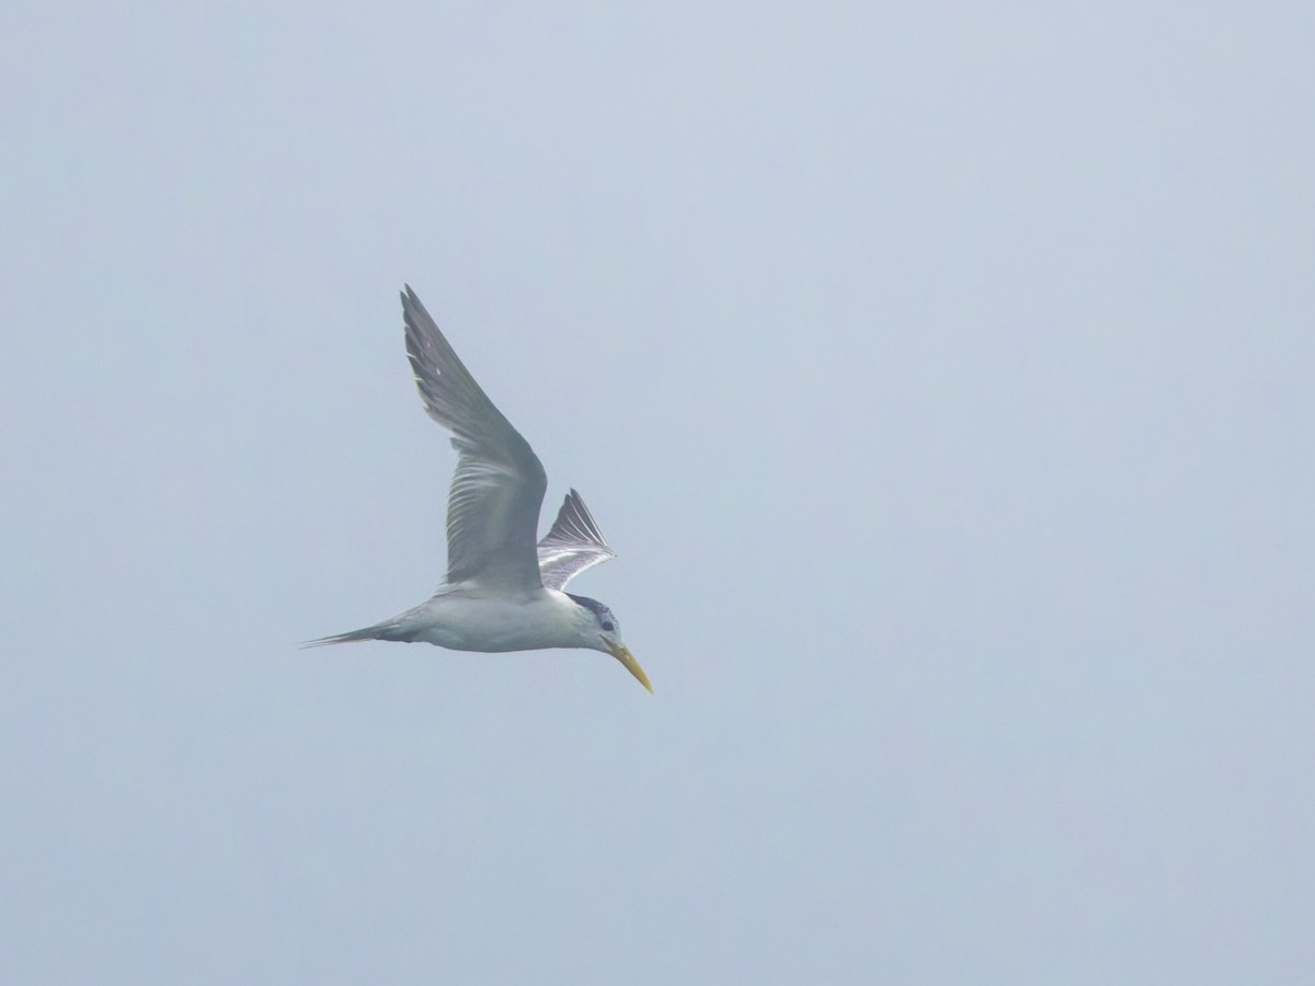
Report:
M535 543L547 489L543 464L475 383L409 284L402 318L425 410L452 433L458 454L447 496L447 577L419 606L305 646L404 640L485 653L583 647L610 653L652 692L611 610L564 592L580 572L617 556L584 500L572 489Z

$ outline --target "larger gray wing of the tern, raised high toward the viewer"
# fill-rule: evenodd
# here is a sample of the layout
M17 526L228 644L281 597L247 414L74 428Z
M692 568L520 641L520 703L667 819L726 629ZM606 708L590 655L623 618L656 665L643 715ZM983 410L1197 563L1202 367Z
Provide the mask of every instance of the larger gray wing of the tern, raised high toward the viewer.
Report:
M425 410L452 433L459 454L447 497L447 581L537 589L543 465L462 365L410 285L402 316Z

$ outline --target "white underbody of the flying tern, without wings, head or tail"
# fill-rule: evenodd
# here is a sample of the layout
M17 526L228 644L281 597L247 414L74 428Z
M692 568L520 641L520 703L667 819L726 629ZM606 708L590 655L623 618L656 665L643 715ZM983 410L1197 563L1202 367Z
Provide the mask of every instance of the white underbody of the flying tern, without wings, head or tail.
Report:
M565 593L535 589L514 596L471 584L443 586L396 619L413 640L454 651L605 649Z

